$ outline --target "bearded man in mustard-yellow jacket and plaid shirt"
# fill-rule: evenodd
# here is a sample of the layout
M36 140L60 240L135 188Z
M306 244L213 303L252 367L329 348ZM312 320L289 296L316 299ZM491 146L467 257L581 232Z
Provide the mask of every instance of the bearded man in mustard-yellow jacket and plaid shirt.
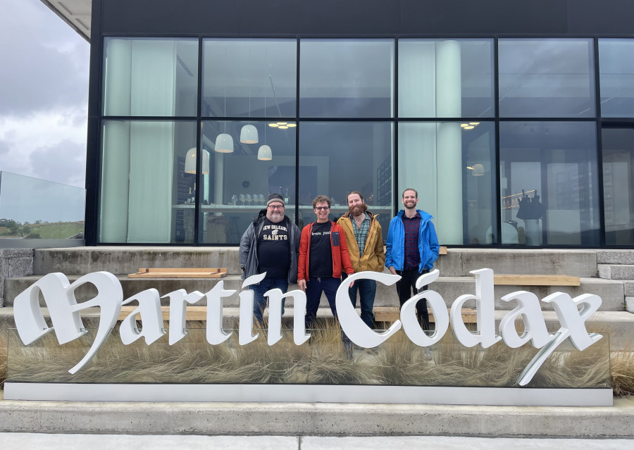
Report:
M361 192L350 192L347 196L348 212L337 220L341 225L348 244L348 253L352 261L354 272L371 270L383 272L385 251L383 250L383 235L381 225L376 217L368 211L368 205L363 201ZM350 301L356 308L356 293L359 292L361 303L361 320L368 327L374 327L374 297L376 282L374 280L357 280L348 289Z

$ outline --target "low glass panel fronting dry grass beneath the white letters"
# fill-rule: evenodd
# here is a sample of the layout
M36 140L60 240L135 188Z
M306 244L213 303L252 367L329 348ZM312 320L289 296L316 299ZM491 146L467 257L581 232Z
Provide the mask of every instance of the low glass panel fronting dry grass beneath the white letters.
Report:
M309 330L311 337L302 345L294 344L292 330L284 329L282 339L269 346L267 330L259 330L254 342L241 346L238 330L224 331L231 335L218 345L207 342L206 329L201 327L187 329L173 345L166 334L148 346L142 337L124 345L117 328L73 375L68 370L85 356L96 330L63 345L53 331L25 346L11 329L6 381L518 387L518 378L538 351L530 344L511 349L503 342L487 349L467 348L452 332L422 347L402 330L374 349L363 349L334 327ZM584 351L566 339L526 388L609 389L609 355L607 334Z

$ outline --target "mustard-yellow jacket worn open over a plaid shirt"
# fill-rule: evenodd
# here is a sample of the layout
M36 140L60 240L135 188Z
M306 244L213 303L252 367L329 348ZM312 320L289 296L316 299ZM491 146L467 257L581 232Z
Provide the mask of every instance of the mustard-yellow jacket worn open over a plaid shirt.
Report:
M366 248L363 249L363 255L361 255L361 257L359 257L359 244L356 243L354 237L354 225L352 224L354 218L350 217L350 213L345 213L337 220L337 223L341 225L346 235L348 253L350 254L354 272L363 272L365 270L383 272L385 251L383 250L381 225L378 223L378 220L376 220L376 216L372 215L369 211L366 212L370 215L370 228L368 230L368 237L366 238Z

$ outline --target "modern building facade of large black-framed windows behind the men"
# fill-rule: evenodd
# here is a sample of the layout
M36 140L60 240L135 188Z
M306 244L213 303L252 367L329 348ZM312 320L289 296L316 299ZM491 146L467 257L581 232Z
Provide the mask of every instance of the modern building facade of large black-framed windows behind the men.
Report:
M89 245L238 244L403 189L450 246L634 244L625 0L93 0Z

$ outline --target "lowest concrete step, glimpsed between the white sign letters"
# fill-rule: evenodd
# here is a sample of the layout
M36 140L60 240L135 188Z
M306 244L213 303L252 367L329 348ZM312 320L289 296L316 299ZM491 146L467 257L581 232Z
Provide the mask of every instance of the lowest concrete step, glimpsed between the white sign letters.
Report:
M357 308L357 313L360 313ZM495 311L495 326L499 327L499 322L508 314L508 310ZM49 312L46 308L42 308L42 314L47 322L50 323ZM97 328L99 325L99 308L87 308L81 312L82 321L87 328ZM557 313L554 311L542 311L547 330L549 332L557 332L561 324L557 319ZM268 316L268 308L264 311L264 316ZM318 318L332 318L330 308L319 308L317 312ZM286 308L285 314L282 316L282 326L292 327L293 316L292 309ZM237 330L240 324L240 308L225 307L223 308L223 327L227 330ZM13 320L13 308L0 308L0 325L7 327L15 327ZM387 328L387 324L384 324ZM475 327L475 325L473 325ZM197 328L200 326L198 325ZM378 324L380 328L381 325ZM599 332L609 334L611 351L632 351L632 342L634 341L634 314L627 311L598 311L590 316L586 321L586 329L588 332Z

